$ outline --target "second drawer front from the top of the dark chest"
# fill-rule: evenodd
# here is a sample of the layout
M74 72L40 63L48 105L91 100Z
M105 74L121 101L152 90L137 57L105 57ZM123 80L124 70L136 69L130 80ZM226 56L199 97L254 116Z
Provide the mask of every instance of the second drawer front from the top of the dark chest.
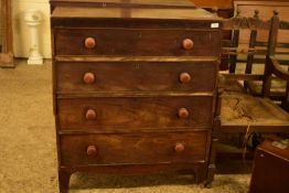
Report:
M57 63L57 92L212 92L216 66L214 62Z

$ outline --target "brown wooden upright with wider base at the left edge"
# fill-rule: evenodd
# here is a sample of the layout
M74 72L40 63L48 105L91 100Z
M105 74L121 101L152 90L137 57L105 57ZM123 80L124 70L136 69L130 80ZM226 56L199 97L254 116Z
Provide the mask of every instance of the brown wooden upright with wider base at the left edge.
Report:
M14 67L12 47L11 1L1 0L0 15L0 67Z

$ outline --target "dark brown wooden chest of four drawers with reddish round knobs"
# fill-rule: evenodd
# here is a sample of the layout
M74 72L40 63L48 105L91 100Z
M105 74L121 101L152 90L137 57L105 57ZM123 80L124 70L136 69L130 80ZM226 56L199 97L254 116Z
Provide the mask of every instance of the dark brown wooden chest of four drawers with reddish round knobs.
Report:
M61 192L76 171L210 183L218 18L189 1L51 4Z

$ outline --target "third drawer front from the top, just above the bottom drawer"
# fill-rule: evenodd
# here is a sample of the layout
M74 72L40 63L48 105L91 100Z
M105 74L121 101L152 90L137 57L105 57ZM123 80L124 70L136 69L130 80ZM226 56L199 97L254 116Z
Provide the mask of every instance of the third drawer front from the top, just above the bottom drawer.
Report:
M60 98L62 129L212 126L213 97Z

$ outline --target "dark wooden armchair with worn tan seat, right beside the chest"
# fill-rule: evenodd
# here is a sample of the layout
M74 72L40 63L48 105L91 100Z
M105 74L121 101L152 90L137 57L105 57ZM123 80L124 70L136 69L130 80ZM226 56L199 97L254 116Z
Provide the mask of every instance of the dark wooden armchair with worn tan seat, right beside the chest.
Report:
M283 22L286 23L286 22ZM236 56L238 54L265 54L266 55L266 71L264 74L247 74L245 72L233 72L223 74L222 85L220 92L221 117L220 117L220 133L250 133L260 132L289 132L289 114L269 99L270 96L270 82L272 75L289 79L288 72L281 69L276 62L271 61L275 54L275 46L277 40L279 19L277 12L269 21L263 21L257 17L244 18L236 17L223 22L223 30L249 30L250 35L255 32L264 30L268 31L269 39L267 49L251 47L250 50L239 51L234 46L234 41L223 42L223 54ZM286 24L287 25L287 24ZM234 37L234 36L233 36ZM234 40L234 39L233 39ZM228 56L228 60L232 57ZM238 65L238 63L237 63ZM276 65L276 67L274 67ZM263 95L260 97L251 96L250 93L239 83L239 81L261 81ZM239 157L242 158L242 157Z

